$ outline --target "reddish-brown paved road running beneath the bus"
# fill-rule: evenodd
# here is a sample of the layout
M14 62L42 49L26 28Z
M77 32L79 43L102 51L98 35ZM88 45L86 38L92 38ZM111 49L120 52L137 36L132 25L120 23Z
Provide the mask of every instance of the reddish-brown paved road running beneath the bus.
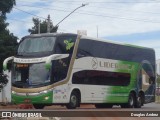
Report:
M2 110L2 109L1 109ZM3 110L8 110L8 109L3 109ZM11 109L10 109L11 110ZM12 109L14 110L14 109ZM16 111L20 112L30 112L31 110L29 109L16 109ZM32 111L36 112L37 109L33 109ZM44 113L49 113L49 114L54 114L55 112L58 112L59 114L62 114L62 116L69 115L69 117L52 117L52 118L39 118L39 119L23 119L23 120L160 120L160 117L143 117L143 114L146 115L146 113L153 113L153 114L158 114L160 116L160 104L157 103L150 103L150 104L145 104L142 108L133 108L133 109L122 109L119 106L114 106L113 108L106 108L106 109L96 109L94 105L81 105L80 108L74 109L74 110L68 110L65 107L61 106L47 106L44 109L38 110L40 112L45 111ZM145 112L144 112L145 111ZM159 111L159 112L158 112ZM91 114L89 117L84 117L83 114L86 113ZM76 116L78 113L78 116ZM83 114L79 114L83 113ZM98 113L98 114L97 114ZM125 113L129 117L119 117L125 115ZM129 114L128 114L129 113ZM134 116L138 115L141 117L131 117L131 114ZM106 116L111 116L111 117L106 117ZM72 117L71 117L72 116ZM73 117L74 116L74 117ZM104 117L105 116L105 117ZM118 116L118 117L115 117ZM19 120L19 119L14 119L14 120ZM22 119L21 119L22 120Z

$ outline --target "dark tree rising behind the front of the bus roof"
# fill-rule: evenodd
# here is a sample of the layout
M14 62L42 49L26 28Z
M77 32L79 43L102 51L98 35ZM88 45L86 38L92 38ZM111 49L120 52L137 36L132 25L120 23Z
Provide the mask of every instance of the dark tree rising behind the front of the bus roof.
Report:
M38 34L38 25L40 22L40 33L47 33L47 20L39 21L38 18L33 18L33 24L34 26L31 29L28 29L28 32L30 34ZM50 22L50 32L57 32L58 26L54 27L53 23Z

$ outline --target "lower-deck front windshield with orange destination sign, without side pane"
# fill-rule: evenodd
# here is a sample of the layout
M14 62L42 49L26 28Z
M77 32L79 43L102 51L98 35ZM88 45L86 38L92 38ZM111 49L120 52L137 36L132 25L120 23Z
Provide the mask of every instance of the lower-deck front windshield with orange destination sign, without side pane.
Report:
M14 64L12 73L13 86L20 88L38 87L48 85L50 81L50 70L45 68L45 63L37 64Z

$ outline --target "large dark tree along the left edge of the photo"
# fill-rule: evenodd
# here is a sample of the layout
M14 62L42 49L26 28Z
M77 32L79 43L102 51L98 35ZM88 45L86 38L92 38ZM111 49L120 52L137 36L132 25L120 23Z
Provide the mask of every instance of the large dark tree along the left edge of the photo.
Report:
M9 13L16 4L15 0L1 0L0 1L0 73L3 70L3 61L5 58L15 54L17 46L17 37L10 33L7 29L8 23L6 20L6 13Z

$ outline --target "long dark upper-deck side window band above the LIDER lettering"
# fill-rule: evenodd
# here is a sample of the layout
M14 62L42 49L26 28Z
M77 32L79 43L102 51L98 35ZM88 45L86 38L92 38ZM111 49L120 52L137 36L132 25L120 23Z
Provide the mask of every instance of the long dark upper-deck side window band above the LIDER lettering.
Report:
M148 60L155 70L155 53L152 49L81 39L78 46L77 59L86 56L139 63L143 60Z

